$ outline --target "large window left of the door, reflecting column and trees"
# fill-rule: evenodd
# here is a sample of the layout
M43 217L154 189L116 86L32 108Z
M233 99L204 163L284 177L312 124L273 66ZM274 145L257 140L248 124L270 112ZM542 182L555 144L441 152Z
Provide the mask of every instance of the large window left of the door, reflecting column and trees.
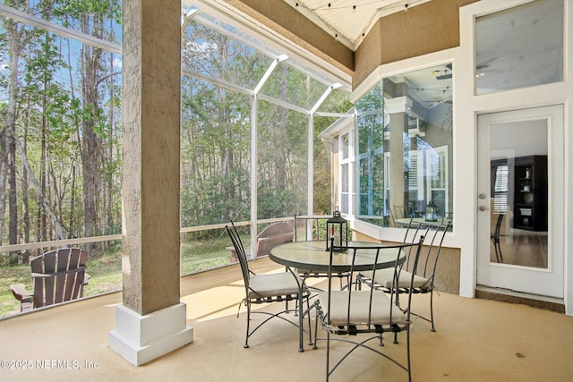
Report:
M359 219L393 226L431 201L452 215L452 74L440 64L391 76L356 102Z

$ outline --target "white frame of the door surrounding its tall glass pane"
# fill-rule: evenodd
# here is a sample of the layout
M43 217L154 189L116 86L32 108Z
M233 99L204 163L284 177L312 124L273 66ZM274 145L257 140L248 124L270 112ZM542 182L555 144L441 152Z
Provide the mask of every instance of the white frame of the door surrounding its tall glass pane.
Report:
M534 268L497 264L490 261L490 138L492 124L514 123L531 120L547 120L548 129L548 267ZM477 206L486 204L487 210L477 213L477 284L509 289L515 292L549 296L562 299L565 290L565 215L562 206L565 202L565 150L564 150L564 107L563 105L539 106L517 110L483 113L477 115L477 154L478 154L478 199Z

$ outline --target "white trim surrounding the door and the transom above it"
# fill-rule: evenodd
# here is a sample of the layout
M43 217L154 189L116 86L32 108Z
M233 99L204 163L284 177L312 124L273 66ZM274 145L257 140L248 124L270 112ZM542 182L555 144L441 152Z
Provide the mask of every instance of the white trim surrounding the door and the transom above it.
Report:
M526 1L526 0L525 0ZM475 82L475 18L524 4L524 0L481 0L459 8L460 43L454 51L454 211L456 227L450 245L460 249L459 294L475 297L477 220L476 115L523 107L565 106L565 314L573 317L573 2L565 2L565 76L563 81L477 96ZM569 239L570 238L570 239Z

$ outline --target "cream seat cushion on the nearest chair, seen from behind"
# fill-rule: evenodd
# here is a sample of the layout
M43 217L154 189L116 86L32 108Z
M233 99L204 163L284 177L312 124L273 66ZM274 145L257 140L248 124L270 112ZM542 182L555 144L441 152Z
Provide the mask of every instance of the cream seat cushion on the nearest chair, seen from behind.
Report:
M352 293L350 302L350 319L347 318L348 293ZM332 291L330 304L330 322L332 326L362 325L369 322L371 291ZM326 316L328 310L328 292L319 292L318 298L321 308ZM390 319L390 300L386 293L381 291L372 292L372 314L370 324L387 325L389 323L403 322L404 314L398 307L392 310L393 320Z

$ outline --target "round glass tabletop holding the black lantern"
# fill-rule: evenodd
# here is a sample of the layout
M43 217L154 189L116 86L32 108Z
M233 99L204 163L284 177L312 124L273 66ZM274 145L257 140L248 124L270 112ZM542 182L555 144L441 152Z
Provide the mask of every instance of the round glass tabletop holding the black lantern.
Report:
M348 246L380 247L374 242L348 242ZM377 268L394 267L397 248L381 249ZM352 253L352 251L350 252ZM328 272L329 250L326 250L325 241L314 242L286 242L270 249L269 259L286 267L309 269L315 272ZM375 250L356 250L355 270L372 270L375 259ZM404 258L404 256L402 257ZM352 254L348 252L335 252L332 259L333 271L349 271L352 265Z

